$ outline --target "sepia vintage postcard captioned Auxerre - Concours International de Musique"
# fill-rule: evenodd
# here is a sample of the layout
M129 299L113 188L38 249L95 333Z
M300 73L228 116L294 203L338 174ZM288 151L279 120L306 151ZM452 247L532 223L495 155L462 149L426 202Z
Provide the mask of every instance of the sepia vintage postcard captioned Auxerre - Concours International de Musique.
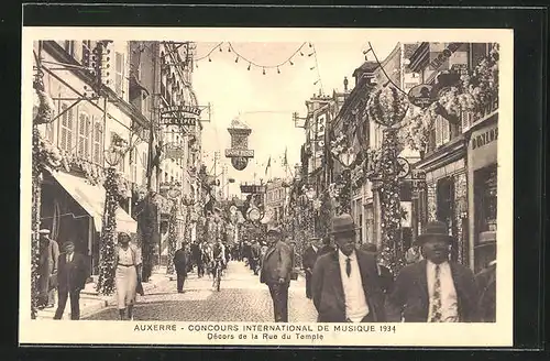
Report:
M512 346L513 68L512 30L24 28L21 344Z

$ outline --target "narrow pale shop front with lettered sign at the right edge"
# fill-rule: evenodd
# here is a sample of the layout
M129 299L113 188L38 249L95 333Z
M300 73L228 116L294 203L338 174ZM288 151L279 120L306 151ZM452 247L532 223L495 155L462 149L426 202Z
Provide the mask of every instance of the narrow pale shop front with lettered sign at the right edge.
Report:
M472 131L468 145L471 264L481 271L496 254L479 247L488 233L496 234L497 215L497 114Z

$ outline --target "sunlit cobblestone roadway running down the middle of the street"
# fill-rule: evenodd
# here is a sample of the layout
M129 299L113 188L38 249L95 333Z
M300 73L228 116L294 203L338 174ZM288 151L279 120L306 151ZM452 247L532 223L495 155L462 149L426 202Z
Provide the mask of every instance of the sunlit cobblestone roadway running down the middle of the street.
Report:
M134 320L173 321L273 321L273 305L267 286L243 262L232 261L221 282L220 292L212 291L208 276L198 278L190 273L185 293L178 294L176 281L166 280L157 288L141 297L134 311ZM315 321L317 311L306 298L306 282L299 276L290 283L288 317L290 322ZM106 308L85 319L116 320L116 307Z

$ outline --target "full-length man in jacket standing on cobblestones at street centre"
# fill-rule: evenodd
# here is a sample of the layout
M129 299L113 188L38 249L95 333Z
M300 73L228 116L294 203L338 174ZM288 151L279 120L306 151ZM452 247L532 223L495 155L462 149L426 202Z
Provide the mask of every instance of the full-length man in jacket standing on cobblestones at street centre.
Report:
M290 247L283 242L278 227L270 227L267 243L270 248L262 262L260 282L270 287L275 322L288 322L288 287L293 267Z

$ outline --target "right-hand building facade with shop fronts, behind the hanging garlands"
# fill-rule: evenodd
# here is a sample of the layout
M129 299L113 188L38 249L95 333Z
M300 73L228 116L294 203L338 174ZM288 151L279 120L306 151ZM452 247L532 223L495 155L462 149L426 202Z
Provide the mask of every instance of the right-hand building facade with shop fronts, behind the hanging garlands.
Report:
M450 56L436 62L450 48ZM421 84L444 89L457 86L491 50L485 43L422 43L410 67ZM483 254L476 256L475 250L480 234L496 232L497 118L497 97L483 111L461 111L452 121L438 114L425 154L414 165L426 174L427 184L414 205L415 233L427 221L444 221L455 240L451 256L474 271L484 265Z

